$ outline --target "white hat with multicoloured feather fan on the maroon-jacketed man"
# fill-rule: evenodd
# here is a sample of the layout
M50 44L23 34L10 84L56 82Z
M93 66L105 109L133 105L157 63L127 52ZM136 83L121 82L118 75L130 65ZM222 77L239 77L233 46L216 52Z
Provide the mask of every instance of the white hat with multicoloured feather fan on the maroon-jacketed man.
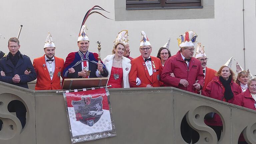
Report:
M180 35L181 39L178 40L178 46L183 47L194 47L197 34L194 31L187 31L183 35Z

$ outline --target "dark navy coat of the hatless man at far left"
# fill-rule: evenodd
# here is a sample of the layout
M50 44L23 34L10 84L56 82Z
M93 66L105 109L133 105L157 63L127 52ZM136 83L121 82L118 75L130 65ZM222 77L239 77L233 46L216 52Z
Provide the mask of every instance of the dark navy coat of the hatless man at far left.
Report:
M27 68L31 69L29 75L25 75L24 72ZM0 81L6 82L9 84L17 85L20 87L28 88L28 82L31 82L36 79L35 69L30 61L30 58L26 55L20 54L19 61L17 62L16 67L12 64L9 55L0 59L0 71L4 71L6 76L0 75ZM14 75L18 74L20 76L20 82L14 83L12 78Z

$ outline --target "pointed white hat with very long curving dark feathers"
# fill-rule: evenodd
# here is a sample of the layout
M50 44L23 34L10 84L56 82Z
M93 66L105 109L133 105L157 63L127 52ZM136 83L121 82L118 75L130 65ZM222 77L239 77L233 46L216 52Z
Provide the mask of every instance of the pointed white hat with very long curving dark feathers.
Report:
M87 33L86 33L86 30L88 30L88 29L87 29L87 27L86 27L84 24L85 24L85 21L87 20L87 18L88 18L91 14L93 14L93 13L98 13L98 14L104 16L102 13L97 12L97 11L94 11L94 10L103 10L103 11L105 11L105 12L108 12L108 11L104 10L102 7L97 6L97 5L96 5L96 6L93 6L91 9L89 9L89 10L86 12L85 16L84 16L84 19L83 19L83 22L82 22L82 25L81 25L81 28L80 28L80 32L79 32L79 35L78 35L77 42L79 42L79 41L89 41L88 35L87 35ZM108 12L108 13L109 13L109 12ZM108 18L108 17L106 17L106 16L104 16L104 17L107 18L107 19L110 19L110 18Z

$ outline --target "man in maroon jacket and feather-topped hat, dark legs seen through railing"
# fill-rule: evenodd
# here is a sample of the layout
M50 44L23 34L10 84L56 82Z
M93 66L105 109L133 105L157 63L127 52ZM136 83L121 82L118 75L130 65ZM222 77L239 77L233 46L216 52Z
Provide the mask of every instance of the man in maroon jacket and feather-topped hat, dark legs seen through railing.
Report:
M196 33L187 31L178 39L180 50L176 55L170 57L164 65L161 81L167 86L196 93L204 85L204 74L201 63L193 57ZM170 76L174 73L175 77ZM198 80L196 82L196 80ZM184 117L181 121L181 134L187 143L195 143L199 139L198 133L192 129Z

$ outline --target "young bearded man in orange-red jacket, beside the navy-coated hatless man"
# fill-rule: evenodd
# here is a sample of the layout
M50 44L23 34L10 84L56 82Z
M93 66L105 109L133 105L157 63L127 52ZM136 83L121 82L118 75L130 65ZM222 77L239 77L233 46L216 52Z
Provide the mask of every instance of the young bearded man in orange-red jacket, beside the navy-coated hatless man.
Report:
M44 44L44 52L42 57L35 58L33 61L33 67L37 74L35 90L61 89L60 76L64 60L54 56L55 45L49 32Z

